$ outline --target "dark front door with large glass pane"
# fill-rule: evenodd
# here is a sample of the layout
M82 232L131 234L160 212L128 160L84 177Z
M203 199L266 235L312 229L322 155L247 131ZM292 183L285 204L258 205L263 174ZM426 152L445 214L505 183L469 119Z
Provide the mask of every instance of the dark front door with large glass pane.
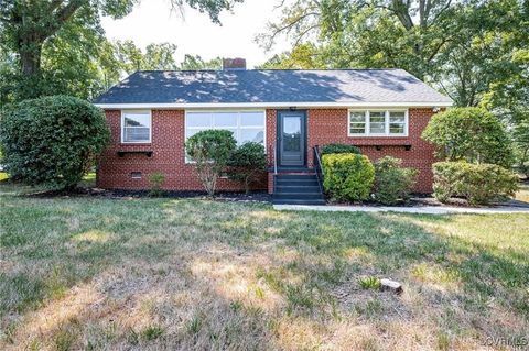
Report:
M304 111L278 112L280 166L305 166L306 114Z

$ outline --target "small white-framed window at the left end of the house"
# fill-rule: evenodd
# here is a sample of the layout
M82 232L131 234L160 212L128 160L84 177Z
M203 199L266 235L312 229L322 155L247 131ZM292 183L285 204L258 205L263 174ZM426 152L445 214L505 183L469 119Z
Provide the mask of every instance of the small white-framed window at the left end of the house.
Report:
M121 142L151 142L151 111L121 111Z

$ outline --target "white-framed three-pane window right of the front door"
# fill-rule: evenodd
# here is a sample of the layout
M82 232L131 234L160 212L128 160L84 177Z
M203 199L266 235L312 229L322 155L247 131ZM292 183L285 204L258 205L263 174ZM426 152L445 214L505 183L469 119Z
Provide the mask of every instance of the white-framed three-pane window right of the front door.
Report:
M350 110L349 136L407 136L406 110Z

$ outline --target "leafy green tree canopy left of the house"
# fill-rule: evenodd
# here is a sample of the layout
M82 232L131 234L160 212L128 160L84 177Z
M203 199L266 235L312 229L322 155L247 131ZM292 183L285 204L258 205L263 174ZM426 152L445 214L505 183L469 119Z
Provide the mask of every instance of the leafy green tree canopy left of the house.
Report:
M207 13L219 23L219 13L241 0L170 0L171 9L184 4ZM112 47L100 26L100 17L127 15L139 0L0 0L0 48L10 63L1 87L3 101L52 94L90 97L108 88L120 70L176 68L175 46L152 44L138 56L129 42ZM114 53L117 53L115 55ZM127 58L125 64L122 58ZM14 65L14 67L13 67ZM139 68L138 68L139 67Z

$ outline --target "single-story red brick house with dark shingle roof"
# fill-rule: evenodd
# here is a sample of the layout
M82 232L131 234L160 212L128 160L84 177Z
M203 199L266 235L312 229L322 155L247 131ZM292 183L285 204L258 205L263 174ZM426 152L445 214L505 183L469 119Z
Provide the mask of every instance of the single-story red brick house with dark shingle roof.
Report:
M312 184L317 165L314 146L328 143L357 145L371 161L384 155L402 158L420 171L415 191L431 191L433 147L421 133L433 113L452 105L451 99L402 69L245 66L244 59L233 59L225 61L223 70L137 72L98 97L94 102L105 110L112 136L101 155L97 185L148 188L149 174L161 172L166 189L201 190L184 142L216 128L233 131L239 144L263 143L268 185L264 175L256 187L278 193L279 199L293 199L279 196L289 180ZM218 189L240 186L222 178Z

